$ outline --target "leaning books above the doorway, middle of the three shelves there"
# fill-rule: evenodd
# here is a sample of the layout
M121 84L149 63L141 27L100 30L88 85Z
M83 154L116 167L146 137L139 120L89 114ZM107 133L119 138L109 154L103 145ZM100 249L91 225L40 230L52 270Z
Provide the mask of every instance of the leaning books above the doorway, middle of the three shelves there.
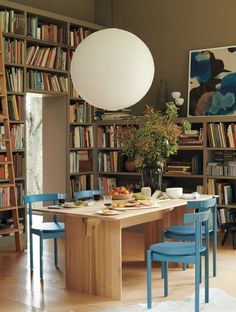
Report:
M67 52L61 47L30 46L26 52L26 64L31 66L67 70Z

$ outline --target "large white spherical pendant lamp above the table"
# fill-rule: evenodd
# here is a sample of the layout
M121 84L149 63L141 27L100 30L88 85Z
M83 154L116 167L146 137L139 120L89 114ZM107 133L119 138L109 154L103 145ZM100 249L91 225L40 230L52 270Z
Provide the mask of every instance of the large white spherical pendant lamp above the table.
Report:
M84 39L75 50L70 68L79 95L106 110L140 101L152 84L154 70L145 43L117 28L100 30Z

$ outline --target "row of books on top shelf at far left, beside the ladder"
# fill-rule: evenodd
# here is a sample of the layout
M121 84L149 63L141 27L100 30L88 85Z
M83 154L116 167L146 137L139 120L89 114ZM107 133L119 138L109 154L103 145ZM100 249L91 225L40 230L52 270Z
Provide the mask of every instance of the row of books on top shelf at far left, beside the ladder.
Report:
M0 24L3 32L19 35L25 33L25 16L14 10L0 11Z

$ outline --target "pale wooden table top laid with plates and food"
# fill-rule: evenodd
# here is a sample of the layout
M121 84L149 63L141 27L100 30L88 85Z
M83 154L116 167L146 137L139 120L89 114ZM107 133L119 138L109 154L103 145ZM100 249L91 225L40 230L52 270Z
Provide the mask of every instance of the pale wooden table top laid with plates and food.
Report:
M203 200L211 198L211 195L201 195L197 200ZM148 214L155 214L159 213L163 210L171 210L175 207L185 206L187 204L186 199L170 199L166 201L159 201L152 206L142 206L135 209L128 209L127 210L119 210L117 214L114 215L101 215L98 212L103 210L104 202L100 200L99 202L94 202L90 206L80 206L78 208L64 208L62 206L45 206L45 207L35 207L33 208L34 211L39 212L47 212L53 214L60 214L65 216L75 216L75 217L87 217L87 218L99 218L103 220L109 221L119 221L125 220L132 217L148 215ZM125 209L125 208L123 208ZM116 211L116 210L113 210Z

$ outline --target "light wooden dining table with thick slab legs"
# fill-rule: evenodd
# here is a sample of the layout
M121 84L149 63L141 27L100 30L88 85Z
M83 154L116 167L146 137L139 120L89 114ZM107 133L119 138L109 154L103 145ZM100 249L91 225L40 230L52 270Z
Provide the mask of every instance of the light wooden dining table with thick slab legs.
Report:
M103 201L79 208L37 207L34 211L65 217L66 288L121 299L122 229L144 224L145 252L150 244L160 241L164 226L182 222L186 203L184 199L171 199L122 210L117 215L99 214Z

